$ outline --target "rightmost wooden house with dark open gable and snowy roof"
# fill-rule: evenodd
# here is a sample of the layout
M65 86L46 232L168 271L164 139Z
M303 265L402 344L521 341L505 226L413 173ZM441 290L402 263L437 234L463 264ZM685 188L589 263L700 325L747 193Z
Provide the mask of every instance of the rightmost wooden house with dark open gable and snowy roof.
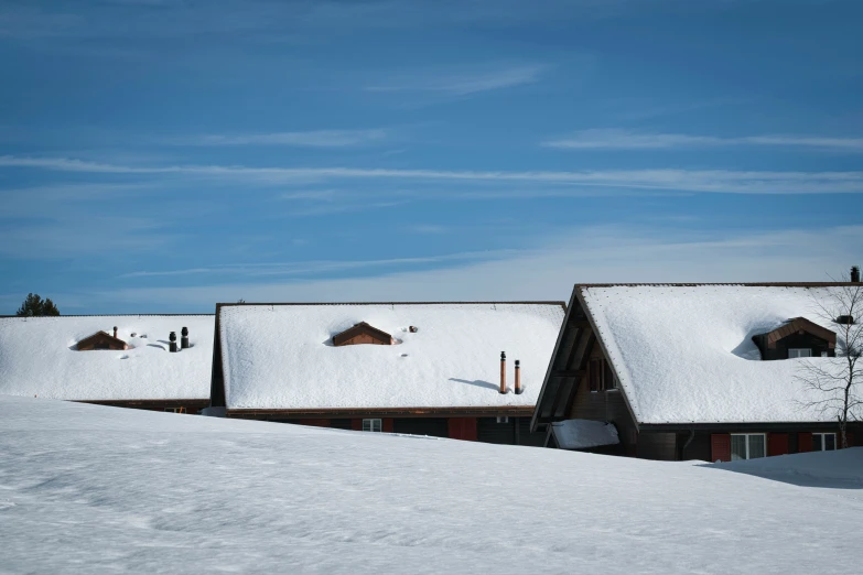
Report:
M841 366L848 318L821 304L854 285L575 285L531 430L554 446L559 422L608 422L614 453L651 459L835 448L835 413L816 402L837 395L801 378ZM849 430L850 442L863 431Z

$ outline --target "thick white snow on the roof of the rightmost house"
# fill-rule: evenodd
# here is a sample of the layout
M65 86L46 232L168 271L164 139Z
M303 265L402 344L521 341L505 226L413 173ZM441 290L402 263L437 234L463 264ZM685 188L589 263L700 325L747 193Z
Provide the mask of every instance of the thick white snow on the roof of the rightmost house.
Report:
M617 285L580 288L640 423L835 421L805 406L809 359L762 361L752 336L819 317L835 288ZM838 362L840 358L812 358Z

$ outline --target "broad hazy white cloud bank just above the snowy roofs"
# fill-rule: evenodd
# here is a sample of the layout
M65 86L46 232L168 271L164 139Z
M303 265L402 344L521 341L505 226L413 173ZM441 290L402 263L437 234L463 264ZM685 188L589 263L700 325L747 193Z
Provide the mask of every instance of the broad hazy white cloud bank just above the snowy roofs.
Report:
M371 276L273 283L128 289L95 294L177 311L215 302L567 300L573 283L819 281L859 254L863 227L770 234L669 234L667 227L582 228L546 238L541 248L424 271L377 270ZM573 249L576 247L579 249ZM518 270L518 273L513 273ZM160 307L161 308L161 307ZM163 310L164 311L164 310Z

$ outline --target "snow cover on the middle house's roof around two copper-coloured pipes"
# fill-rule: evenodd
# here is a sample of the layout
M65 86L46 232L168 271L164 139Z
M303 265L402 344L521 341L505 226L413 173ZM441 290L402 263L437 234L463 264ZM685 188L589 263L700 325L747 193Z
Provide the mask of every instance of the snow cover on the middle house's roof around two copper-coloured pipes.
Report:
M561 303L219 310L227 406L263 410L533 406L564 315ZM333 346L359 322L397 345ZM521 362L519 395L498 392L500 351L510 389Z

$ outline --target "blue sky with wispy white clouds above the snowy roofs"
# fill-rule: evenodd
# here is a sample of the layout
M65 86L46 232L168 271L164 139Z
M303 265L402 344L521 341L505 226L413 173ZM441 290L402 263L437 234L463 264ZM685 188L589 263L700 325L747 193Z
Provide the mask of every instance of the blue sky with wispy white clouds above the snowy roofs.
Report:
M7 0L0 313L841 274L861 22L855 0Z

